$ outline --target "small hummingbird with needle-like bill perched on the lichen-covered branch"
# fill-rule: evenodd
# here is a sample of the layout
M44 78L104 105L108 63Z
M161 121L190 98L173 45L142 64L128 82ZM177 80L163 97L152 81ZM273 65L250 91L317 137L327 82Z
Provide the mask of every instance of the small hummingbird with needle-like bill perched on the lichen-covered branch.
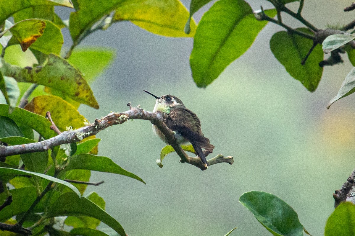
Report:
M201 122L197 115L187 109L184 103L173 95L168 94L158 97L151 92L143 91L157 99L153 112L160 111L166 115L164 123L175 133L176 142L179 145L191 143L197 156L200 157L204 166L208 168L206 155L203 153L202 148L212 152L214 146L209 143L208 138L203 136ZM164 134L155 125L153 125L153 132L165 143L168 143Z

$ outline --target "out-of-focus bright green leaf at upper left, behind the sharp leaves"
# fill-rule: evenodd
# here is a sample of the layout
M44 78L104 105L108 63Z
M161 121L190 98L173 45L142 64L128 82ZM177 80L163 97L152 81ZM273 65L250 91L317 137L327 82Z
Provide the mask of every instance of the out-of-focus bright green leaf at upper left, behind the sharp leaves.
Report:
M68 62L78 68L90 84L100 75L115 57L115 51L109 48L78 48L75 49Z

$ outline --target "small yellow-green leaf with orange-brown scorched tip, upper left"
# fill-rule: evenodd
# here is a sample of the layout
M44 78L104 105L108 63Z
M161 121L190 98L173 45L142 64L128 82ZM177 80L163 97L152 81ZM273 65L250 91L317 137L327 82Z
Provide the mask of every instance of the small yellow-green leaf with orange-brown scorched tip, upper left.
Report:
M20 42L22 51L26 51L27 48L37 40L37 38L42 36L45 25L46 23L39 19L19 21L10 28L7 28L1 32L0 37L10 31L13 37Z

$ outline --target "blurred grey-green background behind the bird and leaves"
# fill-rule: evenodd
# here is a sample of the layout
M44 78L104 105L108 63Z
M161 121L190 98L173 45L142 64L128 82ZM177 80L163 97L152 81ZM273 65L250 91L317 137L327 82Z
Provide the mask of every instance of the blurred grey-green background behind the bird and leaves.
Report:
M188 0L182 0L189 7ZM254 10L271 8L267 1L248 1ZM197 22L208 4L195 15ZM305 1L303 16L318 28L345 24L353 12L345 0ZM297 10L297 3L289 4ZM56 8L62 18L69 12ZM298 27L294 19L284 22ZM100 109L82 105L89 121L110 111L124 111L132 102L152 110L157 95L173 94L201 120L202 131L215 145L214 153L234 156L234 164L221 163L207 171L179 163L170 154L159 168L164 143L148 121L134 120L100 132L99 155L140 176L147 185L120 175L92 173L93 182L105 181L96 191L106 210L130 236L271 235L238 198L251 190L272 193L299 215L312 235L323 235L334 209L332 194L354 168L354 102L351 95L326 105L352 68L326 67L316 92L310 93L293 79L269 49L271 36L282 28L268 24L255 43L206 89L197 88L189 67L191 38L165 38L130 22L98 31L82 47L105 46L116 52L109 69L92 84ZM70 46L64 29L65 46ZM247 35L246 35L247 37Z

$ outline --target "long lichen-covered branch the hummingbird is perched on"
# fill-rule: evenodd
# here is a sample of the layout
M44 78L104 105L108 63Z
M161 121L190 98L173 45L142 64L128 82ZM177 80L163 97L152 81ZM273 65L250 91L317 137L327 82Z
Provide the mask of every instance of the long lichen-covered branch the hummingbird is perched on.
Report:
M151 123L157 126L160 131L162 131L162 133L165 135L168 144L174 148L176 153L181 158L181 162L189 163L202 170L206 169L200 158L188 156L186 152L182 150L181 146L175 140L174 132L171 131L171 129L169 129L165 125L164 114L160 112L153 113L150 111L145 111L137 107L134 107L128 111L121 113L110 113L101 119L96 119L94 123L91 123L87 126L81 127L73 131L64 131L53 138L43 140L38 143L28 143L14 146L0 146L0 157L29 152L47 151L50 148L53 148L54 146L58 146L65 143L78 142L83 138L97 134L98 132L102 131L107 127L122 124L130 119L151 121ZM215 158L212 158L211 160L212 161L207 161L208 165L214 165L216 163L221 162L227 162L230 164L233 163L233 157L221 157L220 155Z

